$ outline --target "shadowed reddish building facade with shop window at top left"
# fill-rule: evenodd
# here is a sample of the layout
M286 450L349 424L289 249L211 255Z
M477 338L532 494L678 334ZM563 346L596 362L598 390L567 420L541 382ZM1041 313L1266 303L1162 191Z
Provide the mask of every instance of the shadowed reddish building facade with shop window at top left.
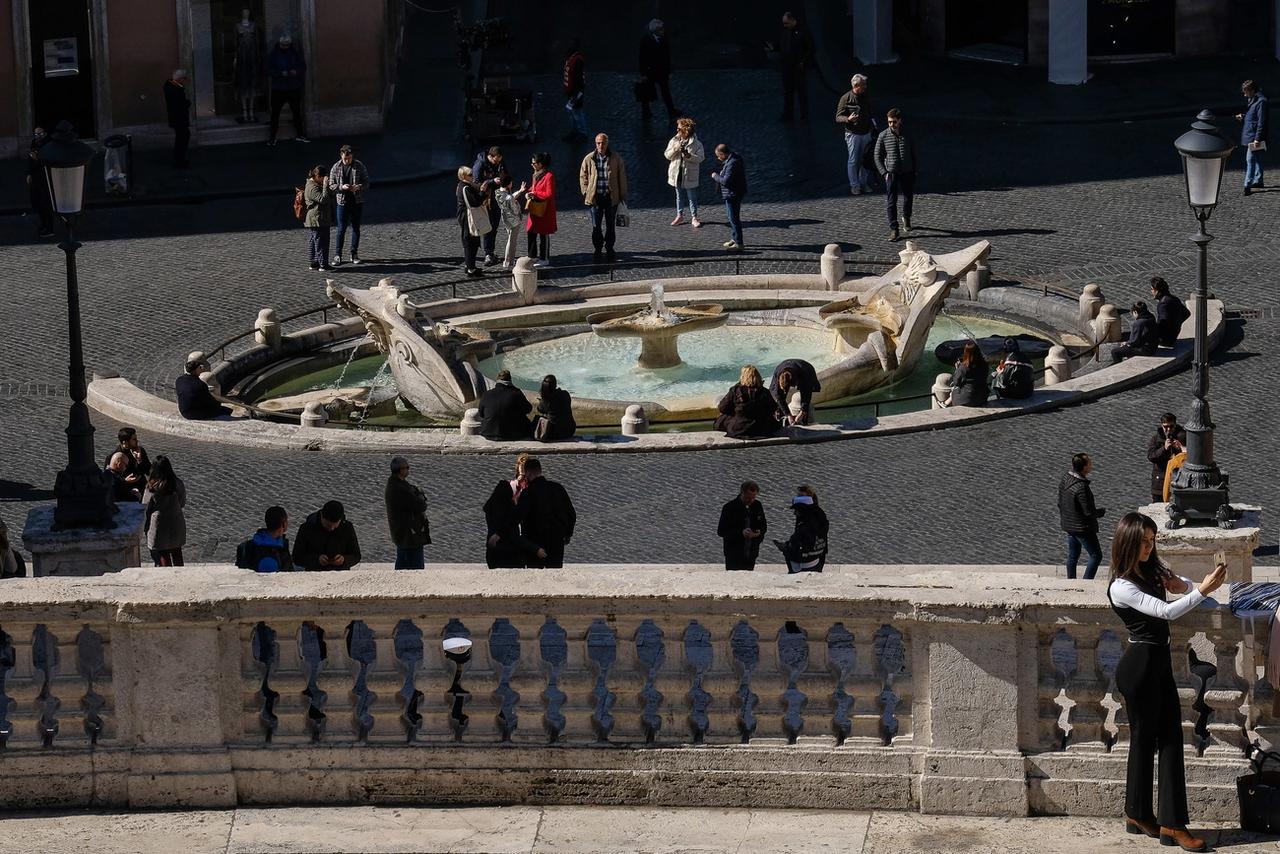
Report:
M175 68L196 145L265 140L265 58L282 33L307 61L307 132L375 132L389 28L384 0L0 0L0 155L61 119L86 138L165 138L161 87Z

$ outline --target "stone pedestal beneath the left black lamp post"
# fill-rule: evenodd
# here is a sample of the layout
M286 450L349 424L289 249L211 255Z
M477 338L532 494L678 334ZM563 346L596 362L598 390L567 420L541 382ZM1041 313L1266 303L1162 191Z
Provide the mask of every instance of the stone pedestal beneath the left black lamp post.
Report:
M27 513L22 542L31 552L31 575L106 575L142 566L142 504L116 504L114 525L55 531L54 506Z

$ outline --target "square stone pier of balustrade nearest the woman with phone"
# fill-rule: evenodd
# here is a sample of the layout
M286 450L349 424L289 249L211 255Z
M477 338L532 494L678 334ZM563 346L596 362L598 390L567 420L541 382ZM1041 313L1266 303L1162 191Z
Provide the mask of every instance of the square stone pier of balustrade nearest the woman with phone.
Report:
M1020 632L1014 624L974 620L922 625L916 635L928 644L928 677L916 684L916 698L928 694L929 720L920 812L1027 816Z

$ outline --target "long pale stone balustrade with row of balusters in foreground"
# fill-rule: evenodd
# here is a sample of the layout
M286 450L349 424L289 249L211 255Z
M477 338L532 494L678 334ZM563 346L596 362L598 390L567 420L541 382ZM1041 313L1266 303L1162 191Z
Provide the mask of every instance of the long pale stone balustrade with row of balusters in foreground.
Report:
M5 581L0 803L1115 816L1124 639L1101 583L1033 567ZM1198 818L1276 732L1258 647L1225 608L1175 624Z

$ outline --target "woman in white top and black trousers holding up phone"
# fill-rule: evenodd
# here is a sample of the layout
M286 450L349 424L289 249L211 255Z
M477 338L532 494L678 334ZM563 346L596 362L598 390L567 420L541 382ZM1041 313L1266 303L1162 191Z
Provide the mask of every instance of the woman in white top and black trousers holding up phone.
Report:
M1125 513L1111 539L1107 602L1129 630L1116 666L1116 688L1129 716L1129 768L1125 778L1125 831L1160 839L1184 851L1204 850L1204 840L1187 830L1187 780L1183 768L1183 712L1174 680L1169 624L1188 613L1226 580L1226 565L1198 585L1170 572L1156 554L1156 522ZM1220 558L1220 556L1217 556ZM1183 595L1169 602L1167 593ZM1152 761L1160 753L1160 803L1152 810Z

